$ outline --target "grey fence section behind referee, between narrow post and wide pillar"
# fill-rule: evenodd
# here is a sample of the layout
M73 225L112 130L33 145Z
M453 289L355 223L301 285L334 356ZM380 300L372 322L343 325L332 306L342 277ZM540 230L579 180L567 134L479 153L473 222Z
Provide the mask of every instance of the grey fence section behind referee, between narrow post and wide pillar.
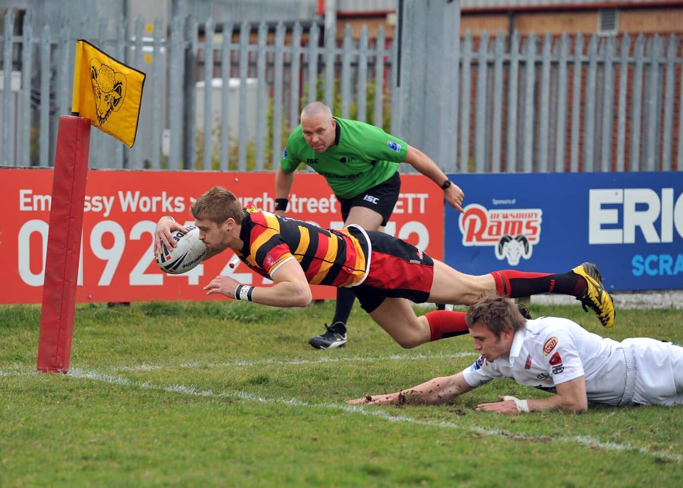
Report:
M238 42L230 47L225 46L226 36L223 45L212 42L215 25L211 18L203 27L205 40L197 42L196 63L188 65L195 78L203 81L198 85L201 96L195 111L202 115L195 121L201 146L189 149L189 154L201 156L202 167L229 169L234 159L240 170L277 165L289 131L298 125L303 104L313 100L324 100L341 117L391 130L387 120L391 100L387 96L391 95L395 53L385 48L384 29L371 42L365 26L360 39L354 41L348 26L343 37L337 38L334 29L323 33L317 24L304 31L298 23L292 29L282 23L269 29L260 23L250 38L250 26L243 22ZM232 31L229 23L222 27ZM222 93L207 88L206 81L211 79L223 87ZM225 96L226 79L240 87L238 99ZM206 107L214 107L214 111ZM255 113L251 118L250 111ZM239 129L234 143L225 123L231 113ZM193 118L186 123L193 124ZM195 132L193 128L189 131ZM230 151L231 144L236 151ZM247 164L252 154L253 164Z

